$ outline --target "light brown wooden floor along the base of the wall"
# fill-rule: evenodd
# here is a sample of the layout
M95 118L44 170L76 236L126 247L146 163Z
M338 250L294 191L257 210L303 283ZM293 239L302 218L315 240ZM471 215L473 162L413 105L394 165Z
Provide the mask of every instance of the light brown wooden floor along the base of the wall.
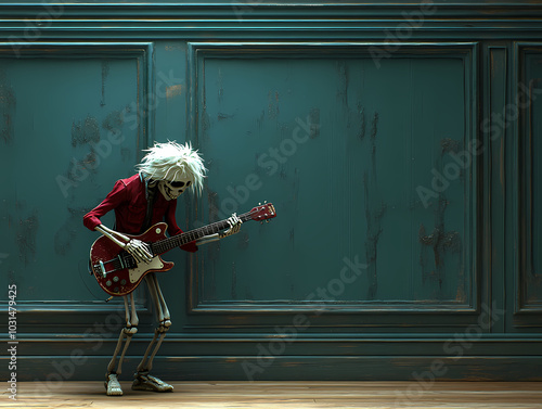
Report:
M496 382L177 382L173 393L105 396L101 382L17 383L0 408L542 408L542 383Z

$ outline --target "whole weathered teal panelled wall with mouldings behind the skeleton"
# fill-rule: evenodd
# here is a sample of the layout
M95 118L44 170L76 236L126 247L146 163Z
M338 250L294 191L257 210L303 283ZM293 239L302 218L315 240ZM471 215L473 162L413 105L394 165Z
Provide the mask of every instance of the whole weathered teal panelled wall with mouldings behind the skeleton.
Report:
M156 374L542 380L541 5L1 1L0 16L0 332L16 285L18 380L102 379L124 307L87 272L82 215L168 139L209 168L179 200L185 230L263 201L279 216L165 257ZM137 299L125 379L153 333L144 285Z

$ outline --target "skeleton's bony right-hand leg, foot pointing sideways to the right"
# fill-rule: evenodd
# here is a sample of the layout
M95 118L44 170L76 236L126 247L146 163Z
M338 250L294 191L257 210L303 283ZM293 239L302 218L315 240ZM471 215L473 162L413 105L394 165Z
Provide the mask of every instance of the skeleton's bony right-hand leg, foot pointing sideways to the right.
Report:
M154 331L153 340L145 350L145 355L138 366L138 372L134 374L136 380L132 384L132 389L134 391L153 391L153 392L171 392L173 386L167 384L164 381L155 376L151 376L149 372L153 368L153 360L158 352L162 342L166 337L166 333L171 325L169 310L162 294L160 286L155 273L149 273L145 277L146 283L149 285L149 291L151 292L151 297L154 301L156 309L156 320L158 328ZM155 345L156 344L156 345ZM154 346L154 349L153 349ZM152 350L152 354L151 354ZM151 354L151 356L149 356Z

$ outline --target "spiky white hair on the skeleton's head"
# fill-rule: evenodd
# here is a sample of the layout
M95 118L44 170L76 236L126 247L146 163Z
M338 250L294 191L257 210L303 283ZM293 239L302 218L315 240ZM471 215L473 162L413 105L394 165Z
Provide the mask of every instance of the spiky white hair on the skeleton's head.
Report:
M193 150L190 143L154 142L154 146L145 152L147 154L137 166L145 179L168 181L190 179L192 192L202 193L207 169L197 150Z

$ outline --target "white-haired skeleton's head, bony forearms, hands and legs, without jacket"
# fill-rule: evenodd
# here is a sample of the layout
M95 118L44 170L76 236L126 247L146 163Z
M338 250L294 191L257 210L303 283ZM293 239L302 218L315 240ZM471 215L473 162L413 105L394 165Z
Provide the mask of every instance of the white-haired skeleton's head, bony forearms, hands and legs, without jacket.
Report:
M154 148L150 149L149 152L150 153L143 158L143 163L139 165L139 167L143 175L146 176L149 189L153 189L156 192L155 194L162 194L166 201L175 201L189 188L201 192L204 177L203 174L206 169L203 167L203 162L196 154L196 151L192 151L190 145L186 144L182 146L175 142L164 144L157 143ZM183 154L179 156L179 152ZM188 170L190 167L192 167L192 171ZM196 189L194 189L194 186L196 186ZM202 244L211 243L240 231L242 220L235 214L228 219L228 222L230 225L229 229L219 233L205 235L197 240L195 244L199 246ZM130 253L138 264L150 263L152 260L153 255L145 243L137 239L131 239L102 223L96 226L95 230ZM171 385L149 374L153 367L154 357L171 325L171 316L156 274L154 272L149 272L145 276L145 282L155 306L157 328L154 331L153 340L143 355L143 359L137 367L132 389L172 392L173 387ZM133 292L124 296L124 303L126 325L120 331L105 376L106 393L109 396L122 395L118 375L121 373L122 361L128 346L130 345L130 341L138 332L139 318L136 310ZM119 353L120 357L118 357Z

